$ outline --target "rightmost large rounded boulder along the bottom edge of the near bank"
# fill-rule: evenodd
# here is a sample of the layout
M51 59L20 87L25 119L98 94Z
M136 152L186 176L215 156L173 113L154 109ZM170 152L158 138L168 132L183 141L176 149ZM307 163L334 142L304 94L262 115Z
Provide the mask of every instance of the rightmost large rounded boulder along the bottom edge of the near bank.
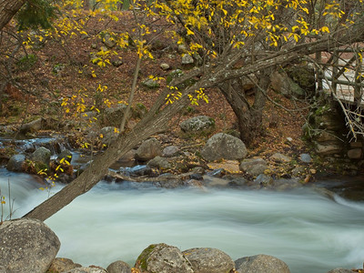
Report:
M290 273L285 262L263 254L238 258L235 267L238 273Z

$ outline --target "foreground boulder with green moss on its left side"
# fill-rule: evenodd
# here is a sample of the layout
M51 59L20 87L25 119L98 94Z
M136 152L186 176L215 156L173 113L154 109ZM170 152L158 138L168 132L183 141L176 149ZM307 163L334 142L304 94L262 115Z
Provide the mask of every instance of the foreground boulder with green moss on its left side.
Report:
M150 245L136 259L135 268L149 273L197 273L181 251L167 244Z

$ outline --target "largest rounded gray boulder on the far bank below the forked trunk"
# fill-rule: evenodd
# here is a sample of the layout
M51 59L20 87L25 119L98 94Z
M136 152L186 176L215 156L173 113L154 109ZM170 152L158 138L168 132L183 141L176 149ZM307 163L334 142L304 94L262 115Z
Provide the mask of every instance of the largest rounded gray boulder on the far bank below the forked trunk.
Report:
M239 160L247 157L247 154L247 147L241 139L224 133L211 136L201 151L201 156L207 161L219 159Z

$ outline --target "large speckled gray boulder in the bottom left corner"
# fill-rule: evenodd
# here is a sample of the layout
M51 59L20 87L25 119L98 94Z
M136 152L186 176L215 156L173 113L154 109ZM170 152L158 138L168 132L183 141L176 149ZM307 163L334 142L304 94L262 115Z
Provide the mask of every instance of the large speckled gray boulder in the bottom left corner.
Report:
M0 265L6 272L45 272L60 245L56 234L42 221L5 221L0 226Z

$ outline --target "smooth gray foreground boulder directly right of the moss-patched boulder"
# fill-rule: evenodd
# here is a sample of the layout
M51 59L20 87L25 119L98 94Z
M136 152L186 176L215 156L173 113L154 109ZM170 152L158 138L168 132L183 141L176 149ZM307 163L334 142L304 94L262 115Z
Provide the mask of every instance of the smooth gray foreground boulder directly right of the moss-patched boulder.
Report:
M229 273L235 268L234 261L217 248L191 248L182 253L195 273Z

